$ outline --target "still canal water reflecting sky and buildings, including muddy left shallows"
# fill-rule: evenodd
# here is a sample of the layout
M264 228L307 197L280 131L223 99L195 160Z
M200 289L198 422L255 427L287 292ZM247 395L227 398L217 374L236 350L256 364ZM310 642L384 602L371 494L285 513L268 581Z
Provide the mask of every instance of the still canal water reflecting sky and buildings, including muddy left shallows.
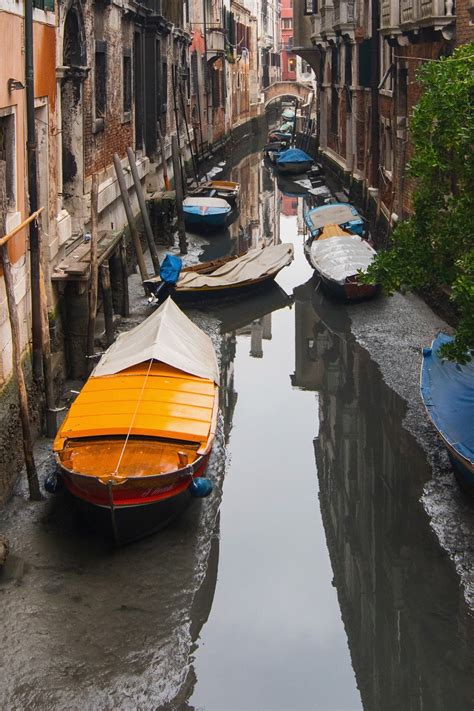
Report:
M230 176L239 221L190 235L191 252L281 241L295 260L265 292L189 312L220 357L214 492L114 552L66 497L17 492L0 525L1 706L469 711L472 618L419 501L430 471L405 405L351 335L364 304L317 288L302 198L258 152Z

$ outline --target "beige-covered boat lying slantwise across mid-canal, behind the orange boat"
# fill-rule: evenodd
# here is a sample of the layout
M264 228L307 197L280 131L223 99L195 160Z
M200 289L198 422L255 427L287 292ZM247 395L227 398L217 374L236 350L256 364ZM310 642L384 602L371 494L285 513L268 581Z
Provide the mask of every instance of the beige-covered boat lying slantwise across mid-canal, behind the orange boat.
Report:
M181 270L167 283L175 300L198 301L209 296L229 297L272 281L283 267L293 261L292 244L270 245L252 249L238 257L227 257L214 262L204 262ZM176 260L176 257L174 257ZM144 282L146 288L158 298L163 293L164 273ZM166 281L165 281L166 283ZM161 297L162 298L162 297Z

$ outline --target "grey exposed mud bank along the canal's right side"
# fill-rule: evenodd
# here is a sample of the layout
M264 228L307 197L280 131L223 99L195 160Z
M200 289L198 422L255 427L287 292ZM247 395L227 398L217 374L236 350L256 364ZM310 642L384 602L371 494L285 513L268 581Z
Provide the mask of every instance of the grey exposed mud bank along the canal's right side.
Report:
M421 350L450 327L419 297L381 297L349 308L357 341L378 363L382 376L407 403L405 426L426 452L433 478L423 505L442 547L454 561L469 607L474 610L474 507L459 489L446 450L420 398Z

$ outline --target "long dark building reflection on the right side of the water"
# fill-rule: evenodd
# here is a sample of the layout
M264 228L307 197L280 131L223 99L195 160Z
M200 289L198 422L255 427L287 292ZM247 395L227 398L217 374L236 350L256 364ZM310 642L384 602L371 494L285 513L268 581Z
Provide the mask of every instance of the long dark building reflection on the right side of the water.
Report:
M428 471L405 407L344 307L316 292L315 314L299 296L293 382L319 392L321 511L363 707L470 709L473 621L419 502Z

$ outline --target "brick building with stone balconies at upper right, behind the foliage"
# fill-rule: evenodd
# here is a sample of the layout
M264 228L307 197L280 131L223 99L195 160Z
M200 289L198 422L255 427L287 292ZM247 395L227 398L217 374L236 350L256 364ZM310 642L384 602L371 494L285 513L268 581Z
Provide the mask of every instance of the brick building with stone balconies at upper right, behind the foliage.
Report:
M471 11L470 0L295 0L294 51L316 72L321 156L386 223L411 209L417 68L472 41Z

